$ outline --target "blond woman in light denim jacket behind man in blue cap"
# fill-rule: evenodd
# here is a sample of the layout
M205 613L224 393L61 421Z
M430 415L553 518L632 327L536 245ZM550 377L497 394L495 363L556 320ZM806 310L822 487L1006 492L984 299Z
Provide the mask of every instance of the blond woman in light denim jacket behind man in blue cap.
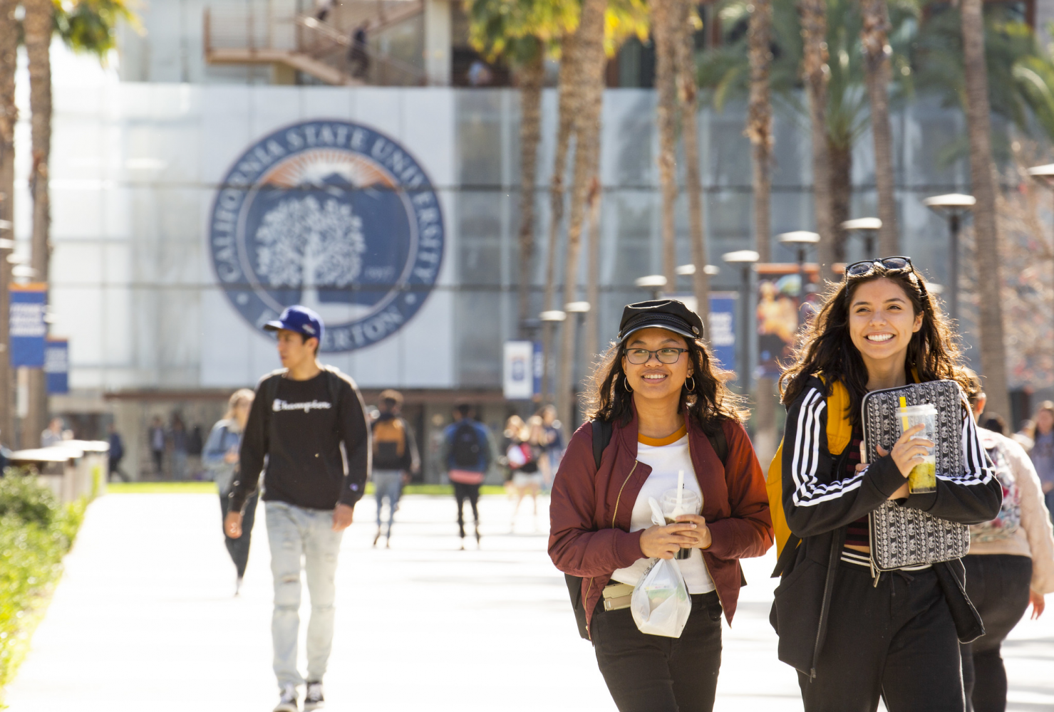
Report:
M219 493L220 521L227 520L227 513L230 510L231 483L238 471L241 434L246 431L254 397L255 394L249 389L238 389L231 394L227 401L227 413L212 427L201 454L202 463L212 475L213 481L216 482L216 491ZM249 543L253 533L253 522L256 520L258 498L259 492L254 491L246 500L241 536L232 537L226 530L223 531L227 553L234 561L234 595L238 595L241 591L241 579L245 578L246 566L249 563Z

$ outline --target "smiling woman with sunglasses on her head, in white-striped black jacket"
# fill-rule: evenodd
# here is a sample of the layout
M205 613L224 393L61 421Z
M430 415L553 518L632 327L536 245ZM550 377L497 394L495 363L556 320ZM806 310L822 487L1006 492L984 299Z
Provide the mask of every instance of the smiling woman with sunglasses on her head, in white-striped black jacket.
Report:
M938 476L936 492L907 489L909 473L933 447L916 437L921 427L860 463L864 395L938 379L968 385L949 323L906 257L850 264L780 379L782 505L801 543L788 541L784 551L793 560L781 572L772 621L780 659L798 670L806 712L873 712L879 697L894 712L963 709L959 639L983 630L963 593L962 563L872 571L868 514L895 500L967 525L995 517L1002 491L974 419L965 407L948 414L961 422L964 468ZM842 393L836 383L847 393L843 412L828 406L828 396ZM833 418L848 420L852 431L840 454L828 450Z

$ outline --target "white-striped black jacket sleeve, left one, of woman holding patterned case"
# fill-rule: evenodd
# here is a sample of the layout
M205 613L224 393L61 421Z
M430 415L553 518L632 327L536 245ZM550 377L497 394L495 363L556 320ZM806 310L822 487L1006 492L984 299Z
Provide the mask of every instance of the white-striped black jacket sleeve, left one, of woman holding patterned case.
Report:
M821 502L838 499L860 487L866 468L852 477L838 479L840 473L832 473L832 481L820 482L820 460L829 453L821 452L823 440L823 412L826 398L817 389L809 391L798 410L795 427L794 451L790 460L790 476L794 480L792 501L796 507L813 507Z

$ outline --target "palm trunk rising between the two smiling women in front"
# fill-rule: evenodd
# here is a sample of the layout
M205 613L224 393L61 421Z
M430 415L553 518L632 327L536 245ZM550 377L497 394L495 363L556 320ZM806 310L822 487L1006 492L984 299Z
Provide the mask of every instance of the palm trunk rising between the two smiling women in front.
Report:
M754 249L760 262L770 262L772 252L772 189L773 189L773 103L768 73L772 52L773 4L770 0L755 0L747 31L750 61L750 99L746 112L747 138L753 145L754 182ZM762 464L776 453L776 380L770 376L758 379L755 396L757 428L754 447Z

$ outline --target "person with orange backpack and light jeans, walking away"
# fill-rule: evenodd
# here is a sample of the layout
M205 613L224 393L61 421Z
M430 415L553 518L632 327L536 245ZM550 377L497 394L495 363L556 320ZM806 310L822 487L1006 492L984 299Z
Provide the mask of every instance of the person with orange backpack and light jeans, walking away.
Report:
M380 539L380 513L384 500L388 500L388 531L385 533L385 549L391 547L392 523L403 495L403 487L410 481L410 474L421 469L417 443L413 439L410 423L399 415L403 409L403 394L388 389L380 392L377 403L380 414L373 421L373 488L377 500L377 533L373 546Z

